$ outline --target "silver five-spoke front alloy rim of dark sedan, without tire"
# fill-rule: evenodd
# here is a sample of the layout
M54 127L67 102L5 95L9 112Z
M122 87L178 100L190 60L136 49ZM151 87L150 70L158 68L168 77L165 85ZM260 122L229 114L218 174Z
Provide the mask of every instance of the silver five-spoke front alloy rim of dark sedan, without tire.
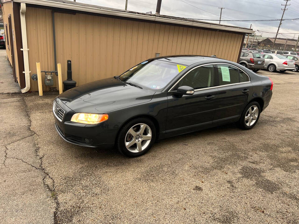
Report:
M127 150L133 153L145 150L152 139L152 131L147 124L136 124L129 129L125 138Z

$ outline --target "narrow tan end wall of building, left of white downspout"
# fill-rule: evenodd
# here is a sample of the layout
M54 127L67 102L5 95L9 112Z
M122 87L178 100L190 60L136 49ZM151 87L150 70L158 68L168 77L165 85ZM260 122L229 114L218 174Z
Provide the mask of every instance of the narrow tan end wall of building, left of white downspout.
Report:
M18 55L17 55L17 47L16 47L17 43L16 43L16 38L15 38L16 33L15 33L15 23L14 23L12 2L3 3L2 14L3 14L3 23L4 23L5 34L9 35L9 38L12 38L12 40L13 40L14 57L15 57L15 71L16 71L17 81L20 82ZM9 26L8 26L8 15L9 14L11 14L11 18L12 18L11 26L12 26L13 35L9 32ZM5 24L7 24L7 30L6 30ZM7 40L7 38L6 38L6 40ZM10 43L9 43L9 45L10 45ZM9 60L10 64L12 65L11 46L9 46L9 48L7 47L7 41L6 41L6 54L7 54L7 57L8 57L8 60ZM19 83L19 85L20 85L20 83Z

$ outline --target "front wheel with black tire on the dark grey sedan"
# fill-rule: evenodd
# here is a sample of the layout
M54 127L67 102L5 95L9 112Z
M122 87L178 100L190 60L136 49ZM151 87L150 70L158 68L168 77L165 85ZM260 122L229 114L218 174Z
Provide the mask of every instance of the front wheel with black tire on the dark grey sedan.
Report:
M125 156L137 157L150 150L155 138L154 123L148 118L136 118L121 128L116 138L116 147Z

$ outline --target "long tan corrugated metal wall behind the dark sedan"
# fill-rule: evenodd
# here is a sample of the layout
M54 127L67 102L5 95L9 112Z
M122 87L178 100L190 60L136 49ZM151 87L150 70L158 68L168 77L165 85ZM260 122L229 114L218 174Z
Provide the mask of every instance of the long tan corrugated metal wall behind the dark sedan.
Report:
M31 74L54 70L51 11L27 8ZM237 61L243 35L85 14L55 13L57 63L72 60L77 85L119 75L155 53L217 55ZM57 77L55 77L56 79ZM55 82L54 87L58 87ZM31 91L37 90L33 82ZM47 89L46 89L47 90Z

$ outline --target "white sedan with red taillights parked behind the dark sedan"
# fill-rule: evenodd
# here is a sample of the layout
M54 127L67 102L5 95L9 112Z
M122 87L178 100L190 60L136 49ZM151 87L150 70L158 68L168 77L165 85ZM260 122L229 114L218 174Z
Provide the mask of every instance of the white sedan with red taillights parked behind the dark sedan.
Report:
M262 57L265 58L265 66L269 72L275 72L279 70L285 72L287 70L295 69L295 61L287 59L285 56L280 54L262 54Z

